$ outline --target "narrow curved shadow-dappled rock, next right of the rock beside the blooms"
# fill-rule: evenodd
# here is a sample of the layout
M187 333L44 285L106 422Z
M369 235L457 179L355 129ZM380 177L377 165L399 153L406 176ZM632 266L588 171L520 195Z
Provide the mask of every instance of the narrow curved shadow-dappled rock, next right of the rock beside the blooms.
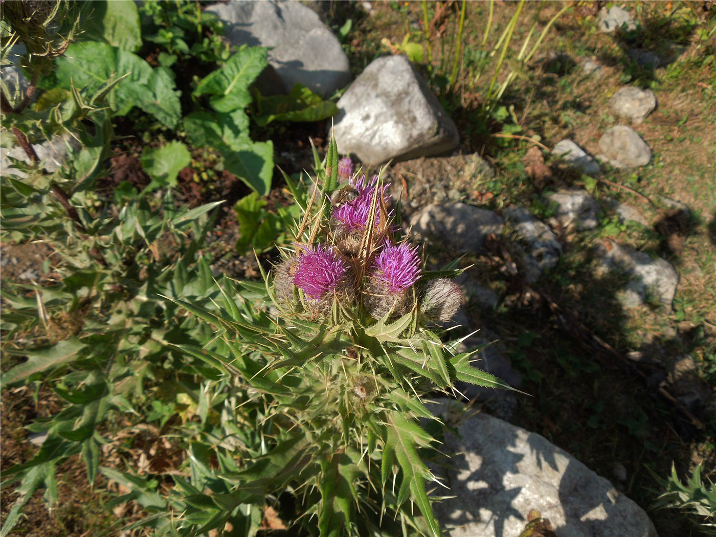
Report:
M551 229L526 209L508 207L502 213L505 221L514 226L518 238L526 245L526 276L528 281L534 283L545 269L552 269L557 265L562 245Z

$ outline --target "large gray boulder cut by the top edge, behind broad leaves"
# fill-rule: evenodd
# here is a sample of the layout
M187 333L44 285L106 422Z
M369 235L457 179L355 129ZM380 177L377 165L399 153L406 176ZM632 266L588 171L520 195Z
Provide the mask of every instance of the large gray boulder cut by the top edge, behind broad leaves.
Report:
M263 78L264 93L288 93L294 84L304 84L326 97L350 82L348 58L338 39L319 16L299 2L230 1L213 4L205 11L226 24L226 38L235 45L273 47L269 64L282 87L267 88L271 77Z

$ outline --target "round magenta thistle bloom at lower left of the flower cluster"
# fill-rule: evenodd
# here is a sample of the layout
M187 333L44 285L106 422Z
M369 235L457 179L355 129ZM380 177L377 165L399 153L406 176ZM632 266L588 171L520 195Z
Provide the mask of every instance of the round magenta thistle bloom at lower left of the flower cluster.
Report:
M344 278L348 265L334 248L319 244L302 246L299 267L294 274L294 285L304 291L309 299L320 299L332 293Z

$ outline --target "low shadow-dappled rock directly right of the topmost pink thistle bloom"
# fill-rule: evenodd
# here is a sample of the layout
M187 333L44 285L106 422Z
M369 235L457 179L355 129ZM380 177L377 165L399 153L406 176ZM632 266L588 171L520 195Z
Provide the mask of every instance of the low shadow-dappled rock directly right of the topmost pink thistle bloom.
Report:
M503 219L465 203L431 203L410 218L410 235L460 252L478 251L490 233L502 233Z

